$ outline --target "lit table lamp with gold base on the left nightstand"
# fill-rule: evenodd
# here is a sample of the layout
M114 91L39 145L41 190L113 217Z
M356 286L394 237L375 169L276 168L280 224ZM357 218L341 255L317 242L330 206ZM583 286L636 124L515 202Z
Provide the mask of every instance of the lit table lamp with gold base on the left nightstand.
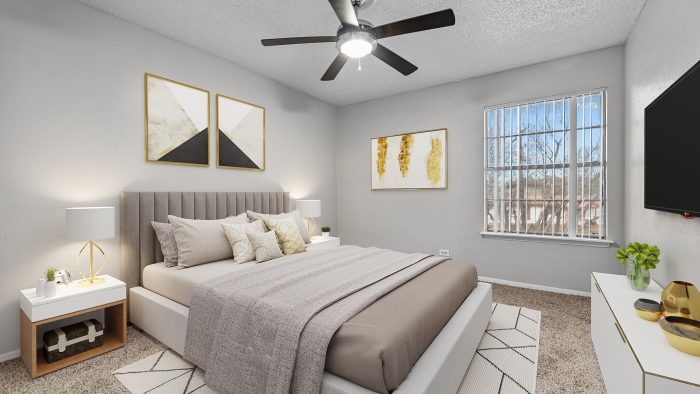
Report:
M76 258L78 272L83 277L80 284L91 286L104 281L104 278L98 278L97 275L107 263L107 256L94 241L114 237L114 207L66 208L66 236L71 241L86 241ZM80 255L88 246L90 247L90 275L86 276L80 268ZM96 271L93 265L95 249L102 253L102 264Z

